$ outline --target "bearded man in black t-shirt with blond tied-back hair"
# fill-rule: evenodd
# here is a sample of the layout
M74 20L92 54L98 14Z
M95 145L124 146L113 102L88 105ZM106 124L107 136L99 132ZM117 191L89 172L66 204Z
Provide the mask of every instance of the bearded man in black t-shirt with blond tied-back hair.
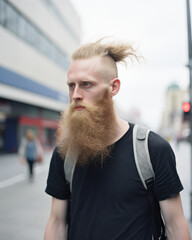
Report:
M50 164L46 192L53 199L44 240L152 239L150 204L133 155L133 124L115 114L112 101L120 89L116 63L133 57L130 45L103 40L80 46L72 56L71 104L61 116ZM189 240L173 151L154 132L149 151L167 237ZM77 157L72 193L63 170L67 152Z

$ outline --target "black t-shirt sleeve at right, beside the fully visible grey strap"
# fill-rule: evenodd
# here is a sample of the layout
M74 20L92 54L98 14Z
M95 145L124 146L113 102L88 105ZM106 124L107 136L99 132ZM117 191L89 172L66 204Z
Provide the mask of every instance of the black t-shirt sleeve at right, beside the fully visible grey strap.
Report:
M150 132L149 152L155 172L154 192L157 199L162 201L182 191L175 154L170 144L158 134Z

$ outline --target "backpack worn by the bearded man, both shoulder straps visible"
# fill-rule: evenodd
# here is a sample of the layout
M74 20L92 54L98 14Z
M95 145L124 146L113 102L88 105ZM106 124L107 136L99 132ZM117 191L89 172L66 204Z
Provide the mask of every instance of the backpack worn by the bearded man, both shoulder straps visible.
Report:
M135 164L141 182L147 191L147 196L151 206L152 215L152 230L153 240L166 240L165 225L161 216L159 202L156 199L153 186L155 173L151 164L149 149L148 149L148 135L149 130L143 126L135 125L133 127L133 152ZM70 184L72 192L72 180L75 169L77 157L71 157L69 153L66 154L64 162L64 172L66 181Z

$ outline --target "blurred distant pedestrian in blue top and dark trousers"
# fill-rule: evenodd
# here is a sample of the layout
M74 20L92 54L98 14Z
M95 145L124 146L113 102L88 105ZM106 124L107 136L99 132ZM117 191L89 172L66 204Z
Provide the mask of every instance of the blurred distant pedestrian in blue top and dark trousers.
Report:
M34 176L34 164L41 162L43 159L43 148L31 129L26 130L25 137L22 139L19 147L19 154L21 156L21 164L27 163L29 179L32 180Z

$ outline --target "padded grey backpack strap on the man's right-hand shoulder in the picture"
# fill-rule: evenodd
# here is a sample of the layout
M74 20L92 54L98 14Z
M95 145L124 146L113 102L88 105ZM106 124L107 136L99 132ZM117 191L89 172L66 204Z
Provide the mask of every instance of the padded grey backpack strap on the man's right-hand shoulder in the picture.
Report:
M145 127L135 125L133 128L133 151L137 171L147 190L147 181L154 179L155 173L151 164L151 159L148 149L149 130Z

